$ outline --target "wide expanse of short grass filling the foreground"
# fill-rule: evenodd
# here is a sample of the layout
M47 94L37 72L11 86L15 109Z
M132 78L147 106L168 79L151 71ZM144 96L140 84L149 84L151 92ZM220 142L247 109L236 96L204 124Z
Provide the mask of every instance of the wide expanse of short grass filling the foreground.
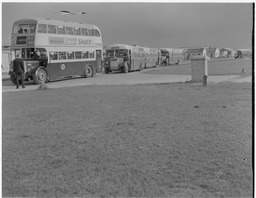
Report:
M252 197L251 84L3 93L4 197Z

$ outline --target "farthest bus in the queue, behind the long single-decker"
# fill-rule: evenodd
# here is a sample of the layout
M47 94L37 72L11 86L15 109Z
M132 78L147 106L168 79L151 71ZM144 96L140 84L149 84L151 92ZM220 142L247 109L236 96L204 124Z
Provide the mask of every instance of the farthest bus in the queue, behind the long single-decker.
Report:
M161 50L163 65L179 64L183 60L183 50L182 49L173 49L173 48L164 48Z

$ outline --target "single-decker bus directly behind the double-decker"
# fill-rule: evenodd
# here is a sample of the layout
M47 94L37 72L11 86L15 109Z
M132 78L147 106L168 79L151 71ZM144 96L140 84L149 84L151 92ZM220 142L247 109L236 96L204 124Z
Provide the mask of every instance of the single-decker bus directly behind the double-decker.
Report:
M112 44L105 48L105 73L143 70L160 62L160 50L138 45Z

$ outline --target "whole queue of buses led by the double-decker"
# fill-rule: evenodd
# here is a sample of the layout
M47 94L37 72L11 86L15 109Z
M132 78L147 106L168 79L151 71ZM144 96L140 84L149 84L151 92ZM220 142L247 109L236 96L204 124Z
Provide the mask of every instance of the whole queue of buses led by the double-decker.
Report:
M103 48L100 29L92 24L31 18L17 20L11 35L12 60L24 62L25 81L46 83L74 76L93 77L104 69L128 73L178 64L182 55L174 49L111 44ZM15 84L10 64L10 78Z

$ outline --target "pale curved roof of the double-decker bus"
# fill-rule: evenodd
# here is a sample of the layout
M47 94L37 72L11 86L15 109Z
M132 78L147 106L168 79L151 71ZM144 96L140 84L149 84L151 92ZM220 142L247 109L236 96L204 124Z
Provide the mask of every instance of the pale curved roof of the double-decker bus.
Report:
M48 18L26 18L26 19L20 19L16 20L14 24L21 24L21 23L46 23L46 24L55 24L55 25L63 25L63 26L76 26L76 27L90 27L90 28L99 28L96 25L93 24L87 24L87 23L79 23L79 22L71 22L71 21L61 21L61 20L56 20L56 19L48 19Z

